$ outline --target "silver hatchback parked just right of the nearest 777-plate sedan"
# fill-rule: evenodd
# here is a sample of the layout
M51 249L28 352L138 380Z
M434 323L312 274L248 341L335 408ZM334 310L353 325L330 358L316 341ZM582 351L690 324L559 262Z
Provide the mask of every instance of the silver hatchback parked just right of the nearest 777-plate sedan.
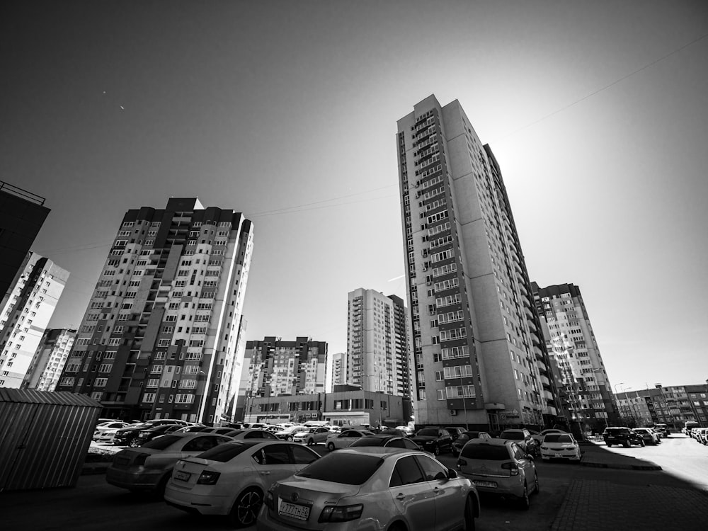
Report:
M457 458L457 469L479 492L513 496L523 509L530 506L529 494L539 492L533 457L515 440L470 440Z

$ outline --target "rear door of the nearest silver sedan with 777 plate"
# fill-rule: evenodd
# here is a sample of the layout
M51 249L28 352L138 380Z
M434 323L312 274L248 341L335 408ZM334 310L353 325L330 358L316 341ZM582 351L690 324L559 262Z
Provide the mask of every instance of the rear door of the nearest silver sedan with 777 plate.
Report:
M411 531L435 529L435 495L413 455L396 461L389 481L389 496L396 513L403 515Z

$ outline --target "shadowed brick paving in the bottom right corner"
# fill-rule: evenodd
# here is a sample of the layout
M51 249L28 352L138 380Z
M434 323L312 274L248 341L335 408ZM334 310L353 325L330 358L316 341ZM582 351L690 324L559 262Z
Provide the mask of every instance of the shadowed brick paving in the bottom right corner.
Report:
M575 479L552 531L705 531L708 496L670 486L628 486Z

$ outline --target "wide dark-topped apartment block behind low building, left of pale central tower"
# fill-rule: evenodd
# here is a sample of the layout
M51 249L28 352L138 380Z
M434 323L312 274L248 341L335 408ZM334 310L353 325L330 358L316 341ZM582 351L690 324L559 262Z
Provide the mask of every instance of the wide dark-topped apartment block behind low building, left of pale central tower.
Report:
M266 336L248 341L241 375L242 401L247 396L324 392L327 343L297 337L282 341Z

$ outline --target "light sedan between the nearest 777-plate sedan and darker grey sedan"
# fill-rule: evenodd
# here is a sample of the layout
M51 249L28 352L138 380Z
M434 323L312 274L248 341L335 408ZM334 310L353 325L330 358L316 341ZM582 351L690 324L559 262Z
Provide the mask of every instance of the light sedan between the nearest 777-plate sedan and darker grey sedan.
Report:
M227 515L232 524L256 523L263 494L319 455L283 440L238 440L177 462L165 489L169 505L202 515Z

